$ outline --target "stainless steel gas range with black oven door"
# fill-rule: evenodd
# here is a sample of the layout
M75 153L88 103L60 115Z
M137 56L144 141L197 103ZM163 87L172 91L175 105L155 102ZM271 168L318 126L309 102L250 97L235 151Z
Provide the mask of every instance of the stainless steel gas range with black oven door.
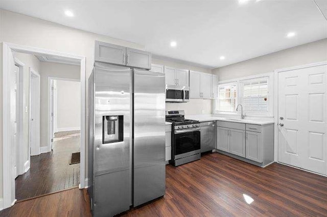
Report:
M166 111L166 121L172 122L172 159L175 167L198 160L200 154L200 122L184 118L184 111Z

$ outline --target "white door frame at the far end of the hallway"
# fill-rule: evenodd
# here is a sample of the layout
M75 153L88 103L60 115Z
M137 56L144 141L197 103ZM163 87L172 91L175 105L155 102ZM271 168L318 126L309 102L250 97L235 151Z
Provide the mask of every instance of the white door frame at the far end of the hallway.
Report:
M52 145L51 139L53 139L53 135L52 135L52 132L51 132L51 108L52 108L52 106L54 106L54 104L51 103L51 92L52 92L51 82L52 82L52 80L65 80L67 82L79 82L79 83L81 83L80 79L75 79L75 78L48 77L48 146L47 147L48 147L49 151L51 151L52 148L53 148L53 147L51 147L51 145ZM54 123L52 123L52 125L53 125L52 127L53 127L53 130L54 130ZM82 139L82 137L81 137L81 139Z

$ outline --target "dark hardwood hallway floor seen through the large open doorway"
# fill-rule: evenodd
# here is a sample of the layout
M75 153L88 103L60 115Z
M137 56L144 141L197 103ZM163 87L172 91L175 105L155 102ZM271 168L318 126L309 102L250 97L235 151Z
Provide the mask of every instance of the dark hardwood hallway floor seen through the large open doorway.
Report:
M24 200L79 185L80 164L69 165L80 151L80 131L55 133L53 151L31 156L30 170L15 180L16 199Z

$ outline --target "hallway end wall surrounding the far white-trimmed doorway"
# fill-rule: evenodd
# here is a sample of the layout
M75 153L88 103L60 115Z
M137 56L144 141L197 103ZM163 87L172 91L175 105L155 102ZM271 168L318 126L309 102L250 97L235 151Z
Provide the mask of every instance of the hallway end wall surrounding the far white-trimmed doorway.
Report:
M40 146L48 146L48 78L61 77L80 79L80 66L61 63L41 62L41 101L40 101ZM79 92L80 93L80 92ZM80 105L80 102L78 103ZM79 111L80 112L80 111Z

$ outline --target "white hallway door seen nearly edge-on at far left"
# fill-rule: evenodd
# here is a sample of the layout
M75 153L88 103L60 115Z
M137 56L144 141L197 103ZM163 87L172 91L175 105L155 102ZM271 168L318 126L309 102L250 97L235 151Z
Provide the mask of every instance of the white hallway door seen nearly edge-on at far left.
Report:
M11 56L11 70L10 70L10 127L11 127L11 165L13 170L13 178L18 176L17 173L17 121L18 121L18 84L19 84L19 67L15 65L14 58Z

